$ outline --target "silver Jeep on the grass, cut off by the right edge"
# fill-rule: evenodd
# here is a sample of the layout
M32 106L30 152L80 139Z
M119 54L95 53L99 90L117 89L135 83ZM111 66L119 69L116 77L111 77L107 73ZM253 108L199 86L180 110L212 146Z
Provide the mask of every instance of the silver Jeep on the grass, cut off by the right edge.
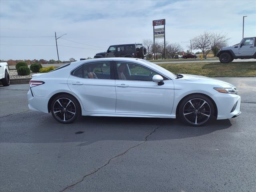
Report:
M232 62L234 59L256 59L256 37L243 38L239 44L221 48L217 57L222 63Z

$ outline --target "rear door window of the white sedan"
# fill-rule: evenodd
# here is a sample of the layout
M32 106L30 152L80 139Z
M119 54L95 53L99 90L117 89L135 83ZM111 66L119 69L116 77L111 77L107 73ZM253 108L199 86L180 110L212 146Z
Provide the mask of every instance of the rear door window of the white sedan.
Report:
M110 79L110 62L102 61L85 63L76 68L72 72L72 75L88 79Z

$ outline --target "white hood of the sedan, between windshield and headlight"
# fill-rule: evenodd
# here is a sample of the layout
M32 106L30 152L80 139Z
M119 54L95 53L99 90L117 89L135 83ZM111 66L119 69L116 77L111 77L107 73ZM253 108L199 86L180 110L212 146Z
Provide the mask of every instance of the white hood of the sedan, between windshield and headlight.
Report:
M209 84L213 86L218 86L218 88L236 88L234 85L224 82L215 78L205 77L205 76L199 76L199 75L189 75L189 74L181 74L183 77L181 79L190 81L190 82L196 82L196 83L202 83L202 84Z

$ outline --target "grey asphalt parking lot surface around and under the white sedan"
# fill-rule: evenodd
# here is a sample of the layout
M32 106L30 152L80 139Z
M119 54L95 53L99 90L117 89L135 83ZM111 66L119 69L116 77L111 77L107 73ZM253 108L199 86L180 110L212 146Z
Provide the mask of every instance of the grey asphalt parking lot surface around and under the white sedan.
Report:
M203 127L161 118L30 111L28 84L0 87L1 192L255 192L256 78L237 86L242 114Z

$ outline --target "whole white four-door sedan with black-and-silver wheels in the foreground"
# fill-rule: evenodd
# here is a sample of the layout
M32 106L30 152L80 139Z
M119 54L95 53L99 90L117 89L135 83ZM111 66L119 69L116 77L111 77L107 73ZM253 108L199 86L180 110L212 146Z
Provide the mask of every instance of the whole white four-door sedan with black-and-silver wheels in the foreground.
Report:
M238 116L241 97L227 82L173 74L142 59L98 58L33 75L31 110L61 123L83 116L176 118L200 126Z

